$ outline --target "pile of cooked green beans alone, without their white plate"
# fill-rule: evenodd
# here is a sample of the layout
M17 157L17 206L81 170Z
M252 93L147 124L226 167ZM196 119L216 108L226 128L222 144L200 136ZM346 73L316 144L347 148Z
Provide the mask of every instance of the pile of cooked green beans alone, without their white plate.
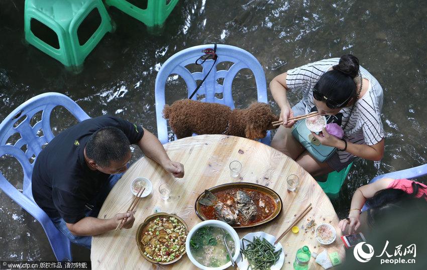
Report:
M246 247L245 241L249 242ZM270 267L279 259L282 249L280 248L279 250L274 251L275 249L276 248L266 239L254 237L252 241L246 238L242 239L242 248L240 249L240 252L245 255L248 260L248 269L251 267L252 270L264 270L270 269Z

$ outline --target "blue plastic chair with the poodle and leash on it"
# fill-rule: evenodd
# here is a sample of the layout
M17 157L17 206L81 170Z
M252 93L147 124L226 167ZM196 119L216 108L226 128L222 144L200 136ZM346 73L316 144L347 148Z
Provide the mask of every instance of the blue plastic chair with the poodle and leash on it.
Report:
M156 98L156 119L157 119L157 136L162 144L168 142L168 130L166 119L163 118L162 110L165 106L165 85L166 81L171 74L181 76L188 90L188 97L196 89L196 80L202 80L212 67L213 60L207 60L202 64L202 72L191 73L185 66L194 64L194 62L204 53L202 50L211 48L213 44L199 45L187 48L176 54L172 55L160 68L156 77L155 85L155 98ZM220 103L234 109L234 101L232 95L232 83L236 74L243 68L252 70L255 76L257 85L258 101L267 103L267 83L265 80L264 70L258 60L249 52L230 45L217 45L218 60L216 66L221 62L233 62L234 64L229 70L218 70L216 66L212 68L206 80L201 87L197 90L198 95L204 94L205 97L201 100L203 102ZM223 85L217 82L218 79L224 78ZM216 93L222 93L223 98L217 98ZM197 99L197 95L192 97L193 100ZM261 139L264 144L270 144L270 131L267 136Z

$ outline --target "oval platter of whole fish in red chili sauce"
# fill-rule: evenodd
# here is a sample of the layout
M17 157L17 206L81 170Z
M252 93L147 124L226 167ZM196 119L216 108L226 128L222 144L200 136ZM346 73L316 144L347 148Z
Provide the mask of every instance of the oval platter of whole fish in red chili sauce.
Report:
M253 183L229 183L205 190L194 205L201 220L216 219L233 228L250 228L276 218L282 200L273 190Z

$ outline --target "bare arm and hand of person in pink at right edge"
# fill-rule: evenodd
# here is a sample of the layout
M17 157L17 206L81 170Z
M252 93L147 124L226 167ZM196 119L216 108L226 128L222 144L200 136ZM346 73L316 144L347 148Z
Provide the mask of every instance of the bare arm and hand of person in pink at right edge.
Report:
M366 199L374 197L374 195L380 190L387 189L387 187L393 181L394 179L392 178L383 178L378 181L375 181L374 183L359 187L354 192L353 198L351 200L350 211L348 216L349 220L347 221L347 219L343 219L338 225L341 230L344 231L346 226L349 225L349 234L351 234L353 230L357 231L360 226L360 214L362 212L361 209L365 204Z

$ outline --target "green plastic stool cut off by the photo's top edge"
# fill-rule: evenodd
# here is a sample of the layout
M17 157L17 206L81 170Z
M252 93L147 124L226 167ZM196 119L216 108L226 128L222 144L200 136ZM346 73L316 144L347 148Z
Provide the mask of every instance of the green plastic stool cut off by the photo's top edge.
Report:
M129 16L143 22L148 27L162 26L175 8L178 0L147 0L147 9L140 9L126 0L105 0L106 6L113 6Z

